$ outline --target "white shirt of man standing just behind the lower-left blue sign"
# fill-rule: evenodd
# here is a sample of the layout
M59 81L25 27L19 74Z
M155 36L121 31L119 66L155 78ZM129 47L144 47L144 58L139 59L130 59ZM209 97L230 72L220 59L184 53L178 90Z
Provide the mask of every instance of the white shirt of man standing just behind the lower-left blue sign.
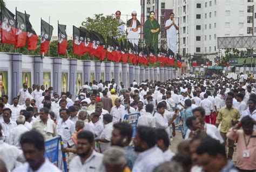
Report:
M66 120L65 122L60 119L57 123L57 132L58 135L62 137L63 140L63 146L68 146L68 140L71 138L73 132L75 131L75 123L71 121L70 119Z

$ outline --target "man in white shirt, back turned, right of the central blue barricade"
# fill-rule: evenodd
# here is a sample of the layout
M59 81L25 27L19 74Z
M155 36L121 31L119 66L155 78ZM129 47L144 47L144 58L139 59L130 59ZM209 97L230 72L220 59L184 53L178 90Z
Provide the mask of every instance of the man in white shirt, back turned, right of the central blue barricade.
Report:
M146 127L156 128L156 119L154 119L152 115L153 110L154 110L154 105L147 104L146 112L144 112L143 115L140 115L137 126L146 126Z

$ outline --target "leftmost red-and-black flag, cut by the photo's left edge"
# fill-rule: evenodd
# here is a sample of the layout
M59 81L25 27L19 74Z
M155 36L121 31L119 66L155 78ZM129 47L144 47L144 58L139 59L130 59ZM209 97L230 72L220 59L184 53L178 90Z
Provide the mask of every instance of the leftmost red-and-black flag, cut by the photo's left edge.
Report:
M16 42L16 27L14 14L1 6L1 43L15 44Z

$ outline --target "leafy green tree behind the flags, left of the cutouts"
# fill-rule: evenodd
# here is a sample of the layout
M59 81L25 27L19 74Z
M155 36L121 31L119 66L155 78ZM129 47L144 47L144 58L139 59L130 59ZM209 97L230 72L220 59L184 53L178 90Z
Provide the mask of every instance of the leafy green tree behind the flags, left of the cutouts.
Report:
M82 22L82 27L85 27L89 31L98 32L106 39L107 36L120 36L121 33L117 27L122 24L124 23L119 23L119 20L113 18L111 15L105 17L103 14L96 14L94 18L87 17L86 20Z

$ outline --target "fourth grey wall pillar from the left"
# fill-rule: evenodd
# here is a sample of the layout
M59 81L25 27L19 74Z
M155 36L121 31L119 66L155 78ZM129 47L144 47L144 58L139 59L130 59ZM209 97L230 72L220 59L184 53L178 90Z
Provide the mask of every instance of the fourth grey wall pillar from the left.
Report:
M76 98L77 88L77 59L70 59L70 80L69 80L69 91L72 94L72 100Z

